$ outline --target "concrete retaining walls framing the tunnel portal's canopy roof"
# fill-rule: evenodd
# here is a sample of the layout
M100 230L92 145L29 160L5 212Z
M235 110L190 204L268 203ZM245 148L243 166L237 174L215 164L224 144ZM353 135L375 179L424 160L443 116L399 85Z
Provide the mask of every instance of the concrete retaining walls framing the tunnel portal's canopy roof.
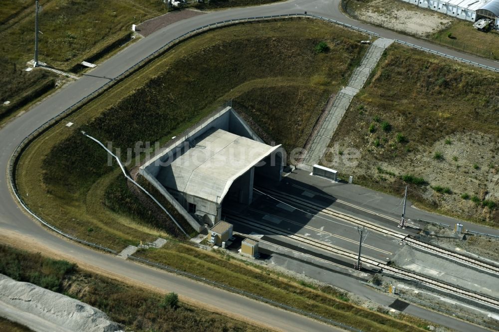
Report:
M194 129L185 133L182 137L177 139L177 144L171 146L164 151L158 153L155 157L145 163L139 168L139 173L143 175L156 189L158 189L163 196L184 216L189 224L198 232L201 231L203 226L187 211L188 203L196 204L198 214L205 213L207 218L202 222L214 225L216 221L221 218L220 205L222 202L212 202L194 195L185 194L180 191L168 191L161 182L158 181L157 176L161 169L162 164L166 164L169 158L177 158L177 155L182 155L189 150L186 146L188 138L196 140L199 136L206 133L210 128L219 128L233 134L249 138L251 140L264 143L263 140L248 126L239 114L236 113L231 107L227 107L220 112L215 113L212 117L205 122L199 124ZM160 163L157 161L159 160ZM282 168L282 167L281 167ZM282 171L282 169L281 169ZM251 173L252 174L252 173ZM252 179L252 176L251 176ZM251 186L252 187L252 186ZM248 192L242 193L244 200L250 196Z

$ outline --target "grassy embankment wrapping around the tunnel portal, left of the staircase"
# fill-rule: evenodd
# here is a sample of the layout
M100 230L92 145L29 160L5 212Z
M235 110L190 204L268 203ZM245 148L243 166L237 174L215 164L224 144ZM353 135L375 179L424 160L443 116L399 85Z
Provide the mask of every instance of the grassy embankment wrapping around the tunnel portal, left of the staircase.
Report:
M248 105L248 114L277 143L292 149L361 58L362 38L299 19L237 25L190 39L33 142L20 160L20 192L50 223L117 250L168 236L172 228L154 222L149 210L128 208L136 198L119 167L107 166L105 151L80 131L112 142L126 160L135 142L164 144L234 98ZM330 52L313 51L321 40ZM265 99L283 95L272 112L255 111ZM275 115L281 115L278 125L266 126ZM74 125L65 127L67 121Z

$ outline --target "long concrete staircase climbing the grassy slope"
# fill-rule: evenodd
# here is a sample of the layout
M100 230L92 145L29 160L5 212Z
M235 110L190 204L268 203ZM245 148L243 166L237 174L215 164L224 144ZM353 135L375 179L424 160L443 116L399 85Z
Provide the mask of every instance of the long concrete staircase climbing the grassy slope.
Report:
M331 109L314 137L303 162L299 165L300 168L311 170L313 165L319 164L353 97L364 87L381 55L392 42L392 39L379 38L369 46L359 66L354 69L348 85L334 98Z

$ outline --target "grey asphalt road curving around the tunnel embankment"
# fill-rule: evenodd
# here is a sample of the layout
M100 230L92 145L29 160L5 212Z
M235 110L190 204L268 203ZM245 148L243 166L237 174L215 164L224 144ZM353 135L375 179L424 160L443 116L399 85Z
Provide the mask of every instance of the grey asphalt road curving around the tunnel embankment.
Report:
M128 46L122 52L108 59L91 71L92 76L83 76L65 88L34 106L29 112L22 114L0 130L0 238L4 240L21 239L28 241L36 248L47 248L52 252L63 253L66 259L78 261L83 266L98 269L115 276L166 291L175 291L184 298L202 303L219 311L246 318L252 322L283 331L335 331L331 326L286 312L266 304L250 300L239 295L225 292L205 284L181 278L147 266L117 259L111 255L98 252L79 244L66 241L54 233L41 227L29 218L9 193L6 169L11 153L29 133L40 124L62 112L85 95L101 87L110 78L116 77L124 70L148 56L168 41L196 27L225 19L285 14L307 11L324 17L336 19L367 30L377 32L383 37L400 39L423 47L432 48L443 53L466 58L489 66L497 67L493 61L480 59L467 54L448 50L428 42L407 37L382 28L373 27L354 21L338 9L340 0L291 0L256 7L218 10L195 16L171 24L155 33ZM39 250L39 249L37 249ZM438 314L437 314L438 315ZM447 319L446 325L464 329L458 321ZM455 322L455 323L453 323Z

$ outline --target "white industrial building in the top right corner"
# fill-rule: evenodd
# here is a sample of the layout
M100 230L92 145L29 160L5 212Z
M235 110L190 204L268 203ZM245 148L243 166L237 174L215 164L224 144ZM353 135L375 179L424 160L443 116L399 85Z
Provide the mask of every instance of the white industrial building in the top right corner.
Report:
M438 12L475 22L481 17L494 19L499 17L499 0L402 0L418 7L429 8Z

